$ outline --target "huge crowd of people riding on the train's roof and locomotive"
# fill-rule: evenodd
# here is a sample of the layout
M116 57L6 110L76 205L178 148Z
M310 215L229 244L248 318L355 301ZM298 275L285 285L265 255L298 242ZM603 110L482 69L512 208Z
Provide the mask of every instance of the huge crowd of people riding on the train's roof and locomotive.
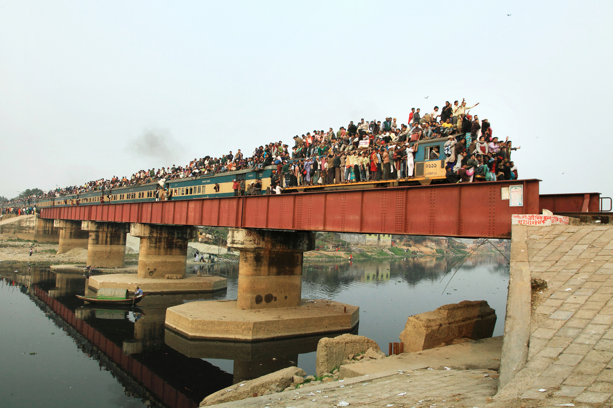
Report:
M249 157L238 149L220 157L194 158L185 166L142 169L131 177L113 176L110 180L56 188L43 198L110 191L160 180L169 182L246 169L259 170L271 165L277 166L273 171L272 190L276 185L287 188L408 179L414 177L414 154L419 148L414 142L437 138L447 139L443 152L432 149L428 160L445 160L449 182L472 182L475 177L488 181L517 179L511 152L520 147L513 147L508 138L498 139L487 118L479 120L478 115L471 114L478 105L466 106L462 99L461 102L447 101L425 114L419 108L411 108L406 124L395 117L386 117L383 122L376 119L351 121L336 132L329 128L327 132L313 130L313 133L296 135L291 147L278 141L256 147ZM238 188L243 190L243 187ZM249 191L249 186L245 190Z

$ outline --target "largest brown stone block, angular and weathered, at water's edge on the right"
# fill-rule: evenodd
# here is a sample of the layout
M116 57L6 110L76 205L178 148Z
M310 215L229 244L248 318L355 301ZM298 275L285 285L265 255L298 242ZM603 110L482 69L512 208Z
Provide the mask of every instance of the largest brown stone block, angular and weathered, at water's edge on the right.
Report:
M405 352L438 347L456 338L492 337L496 313L485 300L444 305L435 311L409 316L400 333Z

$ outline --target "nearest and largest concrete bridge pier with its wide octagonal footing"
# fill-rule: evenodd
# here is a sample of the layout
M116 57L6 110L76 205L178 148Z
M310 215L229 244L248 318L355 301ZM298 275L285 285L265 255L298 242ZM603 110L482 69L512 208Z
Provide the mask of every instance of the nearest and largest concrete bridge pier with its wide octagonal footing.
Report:
M303 253L314 249L314 232L230 228L227 242L240 251L237 300L173 306L167 328L188 338L261 341L357 326L357 306L301 299Z

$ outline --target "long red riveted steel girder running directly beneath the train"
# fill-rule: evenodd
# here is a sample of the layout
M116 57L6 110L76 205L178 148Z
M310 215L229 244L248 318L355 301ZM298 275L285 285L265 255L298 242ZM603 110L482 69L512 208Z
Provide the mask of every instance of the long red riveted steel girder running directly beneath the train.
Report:
M510 207L501 188L524 187L524 206ZM512 214L539 213L539 180L320 191L45 208L42 218L405 234L511 236Z

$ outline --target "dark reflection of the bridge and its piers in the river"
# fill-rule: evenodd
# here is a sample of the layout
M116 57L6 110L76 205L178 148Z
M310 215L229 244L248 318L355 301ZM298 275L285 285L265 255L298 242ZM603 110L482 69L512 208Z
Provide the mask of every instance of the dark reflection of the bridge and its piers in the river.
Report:
M185 300L215 299L218 294L149 295L138 308L104 308L84 305L74 296L85 293L83 275L34 267L0 270L0 275L2 284L19 287L80 351L97 361L99 369L118 379L126 396L148 401L150 406L196 407L208 394L232 384L232 374L164 343L166 308ZM84 395L88 392L83 390ZM40 399L35 406L43 400L53 406L45 396Z

